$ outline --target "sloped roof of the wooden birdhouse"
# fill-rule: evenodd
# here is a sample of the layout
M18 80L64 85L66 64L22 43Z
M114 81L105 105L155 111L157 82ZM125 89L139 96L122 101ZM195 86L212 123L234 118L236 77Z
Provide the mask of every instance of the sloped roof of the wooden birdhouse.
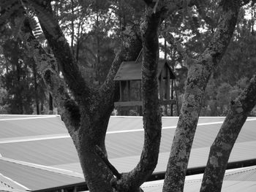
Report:
M157 77L165 66L170 70L170 79L175 79L175 75L173 74L170 66L165 61L159 60L158 69L157 69ZM135 62L135 61L124 61L121 63L121 66L116 72L116 76L114 80L141 80L141 65L142 62Z

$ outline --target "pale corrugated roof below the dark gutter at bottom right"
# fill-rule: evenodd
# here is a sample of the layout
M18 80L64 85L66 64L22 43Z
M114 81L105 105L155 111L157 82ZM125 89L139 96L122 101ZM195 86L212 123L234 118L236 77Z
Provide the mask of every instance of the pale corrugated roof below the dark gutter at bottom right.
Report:
M186 177L184 192L200 191L203 174ZM145 192L162 192L163 180L142 185ZM222 192L256 191L256 166L227 170L222 183Z

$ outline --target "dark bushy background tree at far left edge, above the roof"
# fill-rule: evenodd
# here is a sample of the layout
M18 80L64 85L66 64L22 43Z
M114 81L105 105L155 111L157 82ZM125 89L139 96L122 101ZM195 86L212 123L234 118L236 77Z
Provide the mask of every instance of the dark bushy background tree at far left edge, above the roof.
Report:
M10 30L6 28L5 35L12 34ZM7 113L31 114L34 110L33 103L38 100L31 72L33 63L24 53L20 39L2 39L5 69L1 74L1 87L7 91L2 104L8 106Z

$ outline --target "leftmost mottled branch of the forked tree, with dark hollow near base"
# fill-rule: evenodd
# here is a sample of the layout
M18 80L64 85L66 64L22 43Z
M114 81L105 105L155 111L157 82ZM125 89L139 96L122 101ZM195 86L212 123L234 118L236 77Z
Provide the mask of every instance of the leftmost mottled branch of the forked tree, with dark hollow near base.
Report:
M24 21L22 34L22 39L26 44L26 48L34 58L34 61L37 64L37 69L42 75L48 91L52 94L53 99L59 108L61 118L64 120L70 136L75 137L75 131L80 126L80 112L78 105L67 93L64 80L61 79L59 73L56 72L56 59L53 55L46 53L34 37L28 20Z

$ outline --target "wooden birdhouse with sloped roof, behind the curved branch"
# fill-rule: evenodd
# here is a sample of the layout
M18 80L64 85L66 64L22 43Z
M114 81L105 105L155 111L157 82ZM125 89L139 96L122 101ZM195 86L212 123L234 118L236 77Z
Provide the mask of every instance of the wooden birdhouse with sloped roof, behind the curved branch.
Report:
M115 102L115 107L142 106L141 65L142 61L126 61L119 67L114 80L119 82L120 100ZM176 77L165 60L159 60L157 77L159 103L176 104L173 99L173 80Z

